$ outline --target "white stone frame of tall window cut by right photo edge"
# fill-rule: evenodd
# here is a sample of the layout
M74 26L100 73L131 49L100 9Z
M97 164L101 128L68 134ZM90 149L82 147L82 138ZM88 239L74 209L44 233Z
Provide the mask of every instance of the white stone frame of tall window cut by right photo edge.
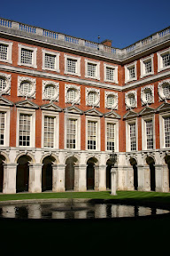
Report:
M159 114L159 142L160 148L166 148L166 138L165 138L165 118L170 117L170 112L164 112Z

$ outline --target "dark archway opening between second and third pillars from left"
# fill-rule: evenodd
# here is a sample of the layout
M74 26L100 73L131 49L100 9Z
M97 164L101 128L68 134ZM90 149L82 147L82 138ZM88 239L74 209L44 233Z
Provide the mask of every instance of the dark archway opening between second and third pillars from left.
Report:
M55 158L46 156L42 161L42 192L52 190L52 164Z

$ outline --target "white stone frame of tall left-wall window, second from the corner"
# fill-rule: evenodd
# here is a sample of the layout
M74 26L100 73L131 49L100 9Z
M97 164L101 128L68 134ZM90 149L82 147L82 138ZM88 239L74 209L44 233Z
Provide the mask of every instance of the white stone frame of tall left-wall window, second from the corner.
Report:
M88 149L88 122L97 123L96 149ZM100 151L101 150L100 117L98 117L98 116L86 116L86 150L88 150L88 151Z

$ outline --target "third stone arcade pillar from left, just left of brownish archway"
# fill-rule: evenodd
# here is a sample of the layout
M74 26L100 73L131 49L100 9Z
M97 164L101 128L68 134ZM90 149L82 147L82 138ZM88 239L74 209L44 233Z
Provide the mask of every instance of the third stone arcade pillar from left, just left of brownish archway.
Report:
M65 169L66 164L52 164L52 191L65 191Z

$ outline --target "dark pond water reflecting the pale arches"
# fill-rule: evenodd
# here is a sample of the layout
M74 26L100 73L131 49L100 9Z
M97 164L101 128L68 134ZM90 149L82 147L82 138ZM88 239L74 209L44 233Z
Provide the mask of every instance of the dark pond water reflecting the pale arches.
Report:
M121 204L33 203L0 205L0 218L16 219L99 219L168 213L157 208Z

